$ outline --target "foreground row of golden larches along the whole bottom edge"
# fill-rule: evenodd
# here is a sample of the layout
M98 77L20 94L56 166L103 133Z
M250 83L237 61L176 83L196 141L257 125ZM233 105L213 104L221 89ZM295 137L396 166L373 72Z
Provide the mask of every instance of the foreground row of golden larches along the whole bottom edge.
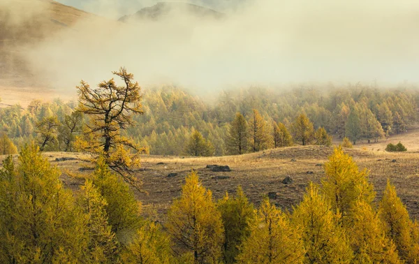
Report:
M215 201L192 172L165 223L141 217L133 191L98 159L72 193L36 145L0 170L1 263L416 263L419 225L388 182L337 148L293 212L240 187Z

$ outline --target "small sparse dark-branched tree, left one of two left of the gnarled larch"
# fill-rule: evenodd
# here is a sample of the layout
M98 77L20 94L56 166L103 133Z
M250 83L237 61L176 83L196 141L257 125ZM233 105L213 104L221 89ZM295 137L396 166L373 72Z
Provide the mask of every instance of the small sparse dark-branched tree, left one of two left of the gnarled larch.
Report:
M38 143L41 152L45 147L54 147L54 144L57 142L58 128L59 121L57 117L44 117L36 123L35 132L38 133Z

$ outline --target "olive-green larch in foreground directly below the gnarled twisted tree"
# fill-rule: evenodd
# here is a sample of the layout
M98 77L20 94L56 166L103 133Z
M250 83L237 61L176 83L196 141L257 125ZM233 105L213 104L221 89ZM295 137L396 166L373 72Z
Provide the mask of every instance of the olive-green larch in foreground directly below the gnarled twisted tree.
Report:
M140 227L141 203L135 200L133 191L117 175L113 174L105 159L99 157L93 173L93 183L105 198L108 223L118 242L126 244Z

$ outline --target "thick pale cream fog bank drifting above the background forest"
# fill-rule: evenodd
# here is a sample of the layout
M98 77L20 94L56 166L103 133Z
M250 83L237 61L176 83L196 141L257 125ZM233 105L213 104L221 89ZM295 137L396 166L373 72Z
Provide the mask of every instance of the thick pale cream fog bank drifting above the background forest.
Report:
M196 91L419 81L416 0L191 1L226 17L177 10L157 22L115 21L155 2L61 0L106 19L80 21L31 45L29 65L62 91L74 91L81 79L95 85L119 66L140 85L174 83Z

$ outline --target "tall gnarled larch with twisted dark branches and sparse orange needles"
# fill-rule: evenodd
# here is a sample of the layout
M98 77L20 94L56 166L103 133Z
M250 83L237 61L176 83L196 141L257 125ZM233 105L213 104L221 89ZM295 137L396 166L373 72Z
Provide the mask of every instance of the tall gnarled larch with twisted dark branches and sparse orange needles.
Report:
M133 74L125 68L112 73L122 80L122 85L117 85L112 78L96 88L84 81L77 87L77 111L89 117L84 126L84 138L78 138L77 147L95 156L103 155L112 170L140 189L140 182L132 176L131 168L139 165L141 148L122 135L123 129L133 126L132 115L142 114L140 85L133 82Z

